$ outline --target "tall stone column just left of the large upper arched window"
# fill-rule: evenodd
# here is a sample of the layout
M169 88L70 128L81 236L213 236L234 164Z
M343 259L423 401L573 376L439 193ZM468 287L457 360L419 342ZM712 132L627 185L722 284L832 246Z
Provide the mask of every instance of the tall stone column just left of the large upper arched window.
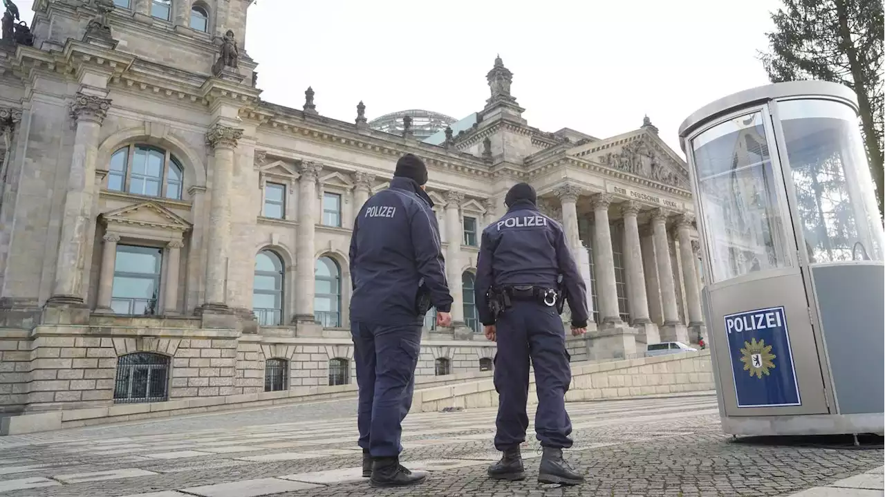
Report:
M83 274L86 265L86 240L92 223L92 196L95 191L98 131L111 101L78 93L71 104L71 117L77 128L73 138L73 157L68 171L65 210L61 237L58 240L58 261L50 304L83 304Z

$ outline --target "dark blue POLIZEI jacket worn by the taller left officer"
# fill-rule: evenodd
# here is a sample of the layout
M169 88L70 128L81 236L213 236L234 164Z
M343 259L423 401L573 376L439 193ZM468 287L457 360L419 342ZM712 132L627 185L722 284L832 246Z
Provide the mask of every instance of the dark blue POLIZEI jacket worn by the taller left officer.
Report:
M395 177L366 201L350 237L350 319L380 325L419 325L419 284L440 312L452 298L433 201L418 183Z

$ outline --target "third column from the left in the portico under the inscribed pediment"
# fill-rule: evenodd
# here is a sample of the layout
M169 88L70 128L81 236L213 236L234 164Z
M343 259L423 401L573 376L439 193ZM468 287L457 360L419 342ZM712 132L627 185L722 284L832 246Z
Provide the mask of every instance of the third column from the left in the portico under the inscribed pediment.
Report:
M660 341L658 326L651 323L649 301L645 291L645 271L643 271L643 247L639 240L639 223L636 217L642 208L633 201L622 203L621 215L624 218L624 269L627 273L627 288L630 294L630 314L635 328L645 331L646 343Z

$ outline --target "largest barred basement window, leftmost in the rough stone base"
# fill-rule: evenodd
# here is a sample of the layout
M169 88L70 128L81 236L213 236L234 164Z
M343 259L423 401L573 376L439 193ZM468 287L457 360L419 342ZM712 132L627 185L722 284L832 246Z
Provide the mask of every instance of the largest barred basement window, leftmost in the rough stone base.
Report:
M169 399L168 387L168 356L136 352L117 358L114 402L165 402Z

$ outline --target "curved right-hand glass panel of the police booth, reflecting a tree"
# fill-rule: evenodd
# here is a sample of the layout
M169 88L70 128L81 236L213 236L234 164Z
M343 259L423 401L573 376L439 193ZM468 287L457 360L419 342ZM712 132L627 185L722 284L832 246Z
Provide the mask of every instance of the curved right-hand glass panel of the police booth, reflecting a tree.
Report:
M873 180L855 112L832 100L777 103L811 264L885 260Z

